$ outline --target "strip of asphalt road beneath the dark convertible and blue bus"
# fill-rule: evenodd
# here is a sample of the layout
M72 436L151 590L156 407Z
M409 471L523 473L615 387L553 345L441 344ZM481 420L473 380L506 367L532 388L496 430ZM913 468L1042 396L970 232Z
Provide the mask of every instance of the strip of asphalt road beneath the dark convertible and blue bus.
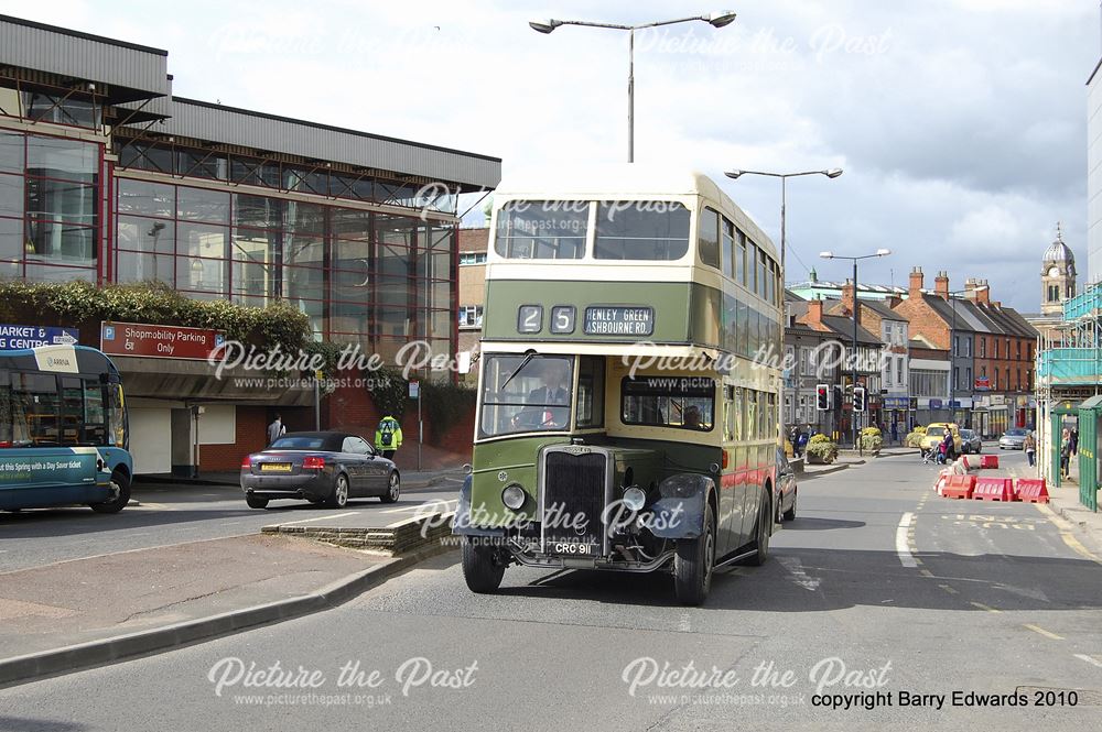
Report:
M140 506L114 515L87 507L0 513L0 575L134 549L256 534L277 523L386 526L413 516L422 503L451 501L462 481L446 478L432 488L403 491L397 503L354 499L345 509L320 509L304 501L276 501L249 509L239 488L156 484L136 488Z

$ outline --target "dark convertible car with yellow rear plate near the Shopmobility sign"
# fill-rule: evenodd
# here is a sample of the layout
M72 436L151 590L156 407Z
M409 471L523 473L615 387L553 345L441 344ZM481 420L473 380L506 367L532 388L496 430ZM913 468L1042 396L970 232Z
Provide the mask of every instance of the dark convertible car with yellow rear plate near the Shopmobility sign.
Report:
M344 507L350 498L393 503L401 493L398 468L358 435L288 433L241 461L241 490L250 509L293 499Z

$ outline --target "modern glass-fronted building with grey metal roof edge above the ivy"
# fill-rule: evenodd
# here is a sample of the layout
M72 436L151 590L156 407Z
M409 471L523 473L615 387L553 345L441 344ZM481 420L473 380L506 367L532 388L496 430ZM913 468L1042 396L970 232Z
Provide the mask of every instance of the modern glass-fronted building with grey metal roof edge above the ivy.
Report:
M318 340L386 360L414 340L453 354L457 198L495 187L500 168L487 155L173 97L165 51L0 17L0 277L280 299L309 315ZM123 375L145 370L122 360ZM177 365L156 368L191 375ZM142 379L150 400L196 392L145 373L131 379L139 397ZM212 406L284 404L219 389L202 390Z

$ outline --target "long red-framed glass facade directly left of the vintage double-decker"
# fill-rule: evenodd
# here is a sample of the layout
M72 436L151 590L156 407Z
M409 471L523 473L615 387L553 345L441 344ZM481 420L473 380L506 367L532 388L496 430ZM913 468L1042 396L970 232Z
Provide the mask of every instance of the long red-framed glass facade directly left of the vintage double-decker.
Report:
M314 336L392 360L414 340L455 350L452 225L177 183L115 178L117 282L310 316Z

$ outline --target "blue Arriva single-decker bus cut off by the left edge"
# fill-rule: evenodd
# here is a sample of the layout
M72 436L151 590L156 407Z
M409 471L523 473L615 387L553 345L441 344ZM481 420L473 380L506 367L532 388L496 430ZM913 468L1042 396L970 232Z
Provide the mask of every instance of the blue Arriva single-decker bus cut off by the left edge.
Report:
M119 370L86 346L0 351L0 510L130 501Z

